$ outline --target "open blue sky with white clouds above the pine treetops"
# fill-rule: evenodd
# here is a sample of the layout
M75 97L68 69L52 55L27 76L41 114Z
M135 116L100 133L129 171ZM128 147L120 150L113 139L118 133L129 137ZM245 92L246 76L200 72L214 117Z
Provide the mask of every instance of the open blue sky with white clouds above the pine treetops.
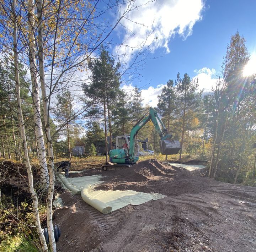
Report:
M167 7L170 15L165 13ZM150 105L156 105L162 85L175 79L177 72L198 77L199 87L210 89L221 70L230 36L236 31L247 40L249 52L256 51L255 0L159 0L148 8L142 8L140 16L131 14L131 18L148 22L149 13L154 13L153 36L160 41L149 57L158 58L146 61L140 71L142 81L127 83L124 89L129 91L137 84L144 102ZM134 37L139 41L146 29L132 28L138 31Z

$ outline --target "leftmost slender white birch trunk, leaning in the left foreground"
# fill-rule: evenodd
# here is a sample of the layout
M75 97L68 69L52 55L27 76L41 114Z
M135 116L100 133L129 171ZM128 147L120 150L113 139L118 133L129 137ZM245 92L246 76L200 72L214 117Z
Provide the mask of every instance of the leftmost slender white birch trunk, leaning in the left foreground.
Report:
M16 23L16 15L15 15L15 5L16 0L12 0L12 13L13 13L13 22L14 22L14 64L15 64L15 91L16 91L16 97L17 97L17 110L18 110L18 120L20 124L20 131L21 131L21 137L22 137L22 146L24 151L24 160L26 164L27 174L28 174L28 188L31 193L31 197L33 200L33 215L35 218L35 225L36 229L41 241L42 249L44 252L48 251L48 247L46 244L46 240L43 235L43 230L40 225L40 219L39 219L39 212L38 212L38 199L37 194L34 190L33 186L33 174L31 170L30 160L28 158L28 151L27 151L27 140L26 140L26 133L25 133L25 125L22 115L22 109L21 109L21 97L20 97L20 77L18 72L18 53L17 53L17 23Z

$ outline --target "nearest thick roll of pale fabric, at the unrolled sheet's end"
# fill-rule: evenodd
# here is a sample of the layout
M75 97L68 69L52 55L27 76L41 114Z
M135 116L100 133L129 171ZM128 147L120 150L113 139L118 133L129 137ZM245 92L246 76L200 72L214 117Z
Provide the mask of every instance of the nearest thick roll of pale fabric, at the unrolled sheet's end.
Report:
M90 196L90 194L88 193L89 188L91 187L91 185L85 185L82 188L81 191L81 196L84 202L86 202L87 204L89 204L90 206L94 207L95 209L97 209L99 212L103 213L103 214L108 214L112 211L112 207L108 206L106 203Z

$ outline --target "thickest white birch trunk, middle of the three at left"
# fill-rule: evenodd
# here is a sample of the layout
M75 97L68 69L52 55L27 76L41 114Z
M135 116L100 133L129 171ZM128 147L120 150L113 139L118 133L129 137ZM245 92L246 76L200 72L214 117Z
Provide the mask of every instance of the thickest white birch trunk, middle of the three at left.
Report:
M37 69L36 69L36 53L35 53L35 37L34 37L34 23L35 23L35 10L34 0L28 0L28 18L29 18L29 60L30 60L30 75L32 83L32 98L33 98L33 111L34 111L34 127L35 136L38 148L38 159L41 173L41 184L43 187L48 187L49 175L47 169L46 150L44 145L43 128L41 120L41 108L39 87L37 83Z

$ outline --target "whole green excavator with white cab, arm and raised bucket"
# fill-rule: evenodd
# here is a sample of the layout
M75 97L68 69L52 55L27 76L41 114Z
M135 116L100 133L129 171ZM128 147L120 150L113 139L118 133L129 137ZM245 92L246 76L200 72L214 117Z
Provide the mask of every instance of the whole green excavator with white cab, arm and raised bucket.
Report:
M110 150L110 162L102 166L103 171L116 168L126 168L135 164L139 160L139 145L137 134L139 130L148 122L152 121L160 140L160 151L164 155L177 154L180 150L180 142L172 139L167 128L164 126L155 109L149 108L147 113L135 124L130 132L130 136L116 137L116 149ZM115 163L115 164L114 164Z

